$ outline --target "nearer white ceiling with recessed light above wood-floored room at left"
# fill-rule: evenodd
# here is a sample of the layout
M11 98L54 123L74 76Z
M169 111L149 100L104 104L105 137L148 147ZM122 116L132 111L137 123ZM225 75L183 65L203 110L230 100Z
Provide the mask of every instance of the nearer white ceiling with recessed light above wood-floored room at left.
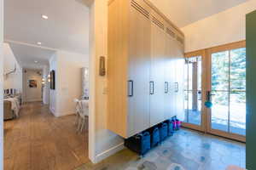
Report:
M4 38L88 54L90 11L79 1L5 0Z

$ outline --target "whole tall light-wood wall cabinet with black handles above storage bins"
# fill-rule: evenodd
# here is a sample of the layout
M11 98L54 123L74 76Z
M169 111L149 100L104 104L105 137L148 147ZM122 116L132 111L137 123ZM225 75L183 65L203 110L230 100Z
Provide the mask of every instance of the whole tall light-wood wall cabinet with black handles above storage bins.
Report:
M183 33L146 0L108 4L108 129L128 138L183 117Z

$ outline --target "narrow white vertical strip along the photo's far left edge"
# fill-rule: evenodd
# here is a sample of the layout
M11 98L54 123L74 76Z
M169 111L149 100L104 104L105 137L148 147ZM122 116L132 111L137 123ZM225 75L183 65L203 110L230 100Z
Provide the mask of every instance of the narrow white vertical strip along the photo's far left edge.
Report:
M3 0L0 0L0 89L3 89ZM3 90L0 90L0 169L3 169Z

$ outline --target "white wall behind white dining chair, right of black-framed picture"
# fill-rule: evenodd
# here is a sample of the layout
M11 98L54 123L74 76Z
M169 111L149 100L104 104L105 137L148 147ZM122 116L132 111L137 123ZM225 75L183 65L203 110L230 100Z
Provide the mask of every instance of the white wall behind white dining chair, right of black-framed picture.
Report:
M58 51L58 105L59 116L75 112L73 99L82 96L82 68L88 66L88 56L66 51Z

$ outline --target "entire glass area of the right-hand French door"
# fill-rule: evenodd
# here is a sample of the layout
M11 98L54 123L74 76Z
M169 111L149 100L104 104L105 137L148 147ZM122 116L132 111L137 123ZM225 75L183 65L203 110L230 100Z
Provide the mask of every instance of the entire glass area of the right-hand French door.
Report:
M246 133L246 48L211 54L210 131L229 136ZM211 130L212 129L212 130Z

